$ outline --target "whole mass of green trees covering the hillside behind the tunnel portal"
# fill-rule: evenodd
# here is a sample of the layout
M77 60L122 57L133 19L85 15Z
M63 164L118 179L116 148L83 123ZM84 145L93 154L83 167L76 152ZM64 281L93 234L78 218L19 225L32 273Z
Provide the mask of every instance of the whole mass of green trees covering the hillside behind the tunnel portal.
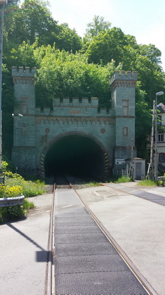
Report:
M137 44L110 21L95 16L82 39L68 24L58 24L46 1L8 1L4 17L3 141L12 146L11 113L14 104L11 66L36 66L37 104L51 105L54 97L97 96L110 107L109 80L113 71L138 71L136 90L136 145L146 157L151 131L151 109L157 91L165 92L161 51L154 44ZM159 98L164 103L164 97ZM160 102L160 101L158 101Z

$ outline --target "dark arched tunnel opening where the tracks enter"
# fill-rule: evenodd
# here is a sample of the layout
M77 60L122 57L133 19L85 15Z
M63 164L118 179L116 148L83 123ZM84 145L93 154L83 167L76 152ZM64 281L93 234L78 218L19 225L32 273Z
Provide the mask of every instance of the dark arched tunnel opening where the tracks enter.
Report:
M44 169L46 177L62 173L102 179L105 171L104 152L87 136L63 136L48 150Z

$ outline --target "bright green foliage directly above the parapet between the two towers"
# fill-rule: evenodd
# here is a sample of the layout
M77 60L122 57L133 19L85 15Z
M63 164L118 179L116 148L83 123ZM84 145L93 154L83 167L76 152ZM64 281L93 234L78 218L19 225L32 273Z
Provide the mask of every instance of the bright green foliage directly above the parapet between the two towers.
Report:
M50 100L57 97L100 97L102 105L110 104L109 79L115 70L114 62L107 66L88 64L82 54L48 51L38 69L36 86L39 96ZM43 101L44 104L44 101Z

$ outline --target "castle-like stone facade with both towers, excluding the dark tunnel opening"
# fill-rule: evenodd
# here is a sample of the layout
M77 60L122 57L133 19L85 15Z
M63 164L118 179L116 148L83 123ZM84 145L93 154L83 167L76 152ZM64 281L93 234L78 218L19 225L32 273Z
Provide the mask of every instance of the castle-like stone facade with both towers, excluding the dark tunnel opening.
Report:
M12 68L16 99L12 161L18 170L44 174L44 158L50 147L71 134L95 141L104 154L105 173L123 169L134 142L137 72L115 71L110 79L112 109L99 112L97 98L55 98L53 109L41 110L36 107L35 74L35 68Z

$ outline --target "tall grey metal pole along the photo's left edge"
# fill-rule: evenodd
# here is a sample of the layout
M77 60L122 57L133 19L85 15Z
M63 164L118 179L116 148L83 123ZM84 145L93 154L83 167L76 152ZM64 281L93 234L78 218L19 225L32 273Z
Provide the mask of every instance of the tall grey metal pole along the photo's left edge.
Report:
M1 111L1 85L2 85L2 53L3 53L3 30L4 30L4 5L7 0L0 0L1 6L1 29L0 29L0 174L1 174L1 154L2 154L2 111Z

